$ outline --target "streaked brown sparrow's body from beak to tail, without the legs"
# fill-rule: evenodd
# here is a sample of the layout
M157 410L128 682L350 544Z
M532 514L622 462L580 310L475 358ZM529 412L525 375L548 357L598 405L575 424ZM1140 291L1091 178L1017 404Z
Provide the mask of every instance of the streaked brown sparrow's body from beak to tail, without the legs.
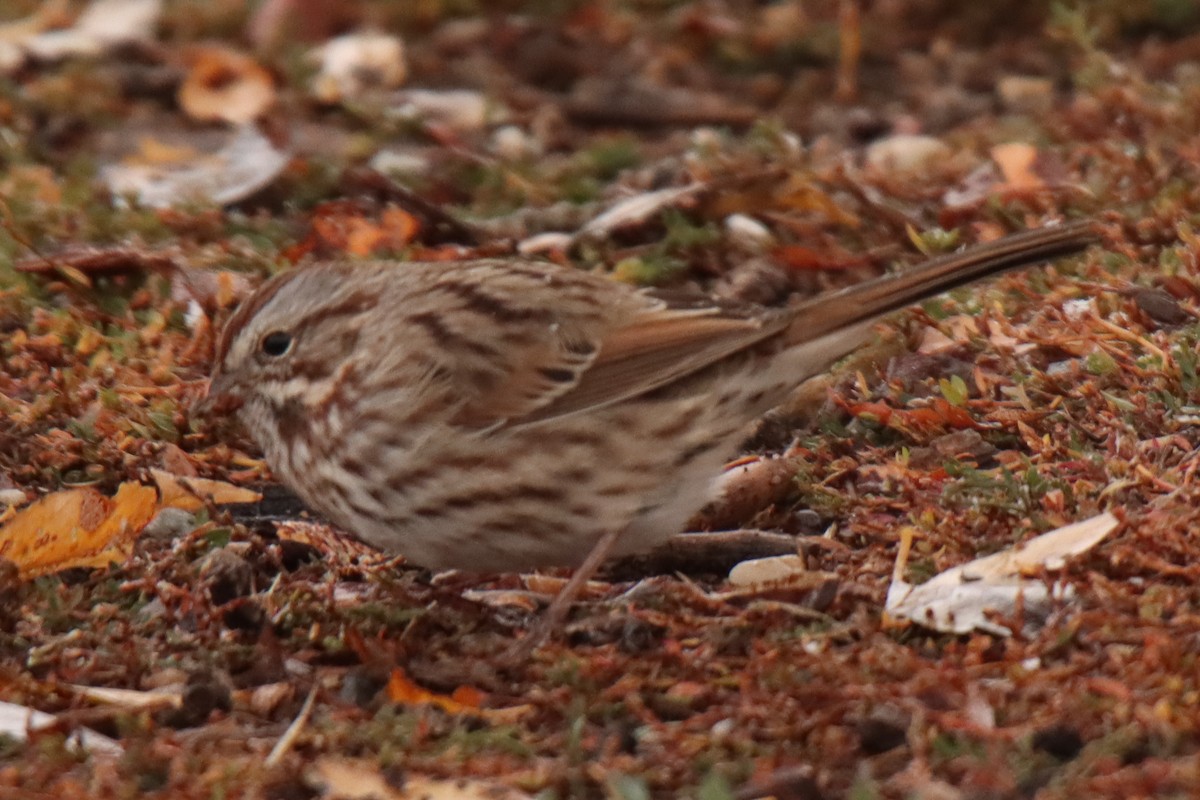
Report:
M881 314L1086 247L1018 234L786 309L679 302L512 259L318 264L230 319L211 398L278 477L430 567L578 565L653 547L708 499L746 425Z

